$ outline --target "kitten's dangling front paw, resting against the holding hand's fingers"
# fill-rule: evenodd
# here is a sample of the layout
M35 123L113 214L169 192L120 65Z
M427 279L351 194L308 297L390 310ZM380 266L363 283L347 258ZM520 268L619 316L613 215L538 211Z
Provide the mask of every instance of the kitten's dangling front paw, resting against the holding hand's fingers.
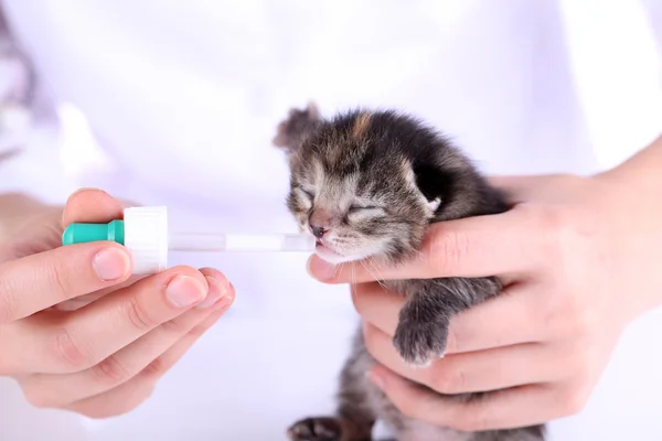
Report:
M446 352L447 323L401 321L393 336L393 345L403 359L417 367L429 366Z

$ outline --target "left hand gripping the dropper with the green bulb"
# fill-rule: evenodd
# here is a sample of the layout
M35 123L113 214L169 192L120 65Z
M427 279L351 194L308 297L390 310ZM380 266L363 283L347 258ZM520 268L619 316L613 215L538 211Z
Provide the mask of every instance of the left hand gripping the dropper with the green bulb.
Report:
M131 277L130 254L115 243L60 247L72 222L121 217L102 191L31 214L0 243L0 376L40 408L132 410L227 310L234 288L210 268Z

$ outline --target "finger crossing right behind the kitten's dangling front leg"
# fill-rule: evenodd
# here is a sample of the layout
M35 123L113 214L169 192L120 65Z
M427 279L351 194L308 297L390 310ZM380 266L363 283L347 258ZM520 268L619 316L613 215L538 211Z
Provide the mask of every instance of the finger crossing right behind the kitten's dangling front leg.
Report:
M456 314L450 319L446 354L543 341L551 329L538 298L527 286L513 284L496 298ZM387 335L395 334L403 295L384 291L377 283L361 283L353 287L352 300L363 320Z

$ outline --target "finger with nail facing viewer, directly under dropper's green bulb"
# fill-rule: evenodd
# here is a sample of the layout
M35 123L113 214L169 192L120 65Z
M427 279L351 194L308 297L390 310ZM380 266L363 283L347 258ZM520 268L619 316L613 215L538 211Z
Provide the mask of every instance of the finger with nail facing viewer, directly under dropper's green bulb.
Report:
M111 287L131 273L130 254L109 241L76 244L0 265L0 323Z

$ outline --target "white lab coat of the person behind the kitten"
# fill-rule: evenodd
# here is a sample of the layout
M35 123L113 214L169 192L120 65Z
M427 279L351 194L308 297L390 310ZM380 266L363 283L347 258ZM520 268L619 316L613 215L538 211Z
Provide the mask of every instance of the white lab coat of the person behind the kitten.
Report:
M293 232L270 139L292 106L397 107L489 173L590 173L660 131L659 2L4 0L58 106L0 190L62 202L102 186L167 204L173 228ZM652 19L652 20L651 20ZM653 24L656 23L658 26ZM39 180L50 176L51 183ZM2 440L279 440L333 408L356 316L307 256L175 255L237 289L228 314L134 412L34 410L0 380ZM586 410L553 440L658 440L662 320L623 336Z

